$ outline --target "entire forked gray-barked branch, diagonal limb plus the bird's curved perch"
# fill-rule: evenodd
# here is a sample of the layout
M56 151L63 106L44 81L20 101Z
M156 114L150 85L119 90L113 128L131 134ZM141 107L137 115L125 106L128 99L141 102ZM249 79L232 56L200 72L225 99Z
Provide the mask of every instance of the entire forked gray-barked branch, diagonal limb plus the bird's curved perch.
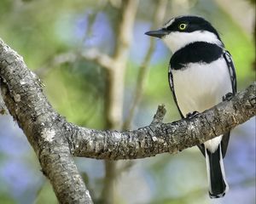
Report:
M175 153L229 131L256 112L254 82L230 101L190 119L163 123L165 109L160 106L153 122L137 130L79 127L52 108L38 77L1 39L0 87L9 113L26 134L61 203L92 203L73 156L118 160Z

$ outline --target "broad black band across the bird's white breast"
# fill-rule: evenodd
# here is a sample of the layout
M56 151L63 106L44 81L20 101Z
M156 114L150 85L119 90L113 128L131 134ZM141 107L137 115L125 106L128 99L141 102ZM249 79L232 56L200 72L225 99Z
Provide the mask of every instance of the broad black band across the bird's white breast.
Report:
M223 54L223 48L209 42L193 42L172 55L172 69L182 69L188 63L211 63Z

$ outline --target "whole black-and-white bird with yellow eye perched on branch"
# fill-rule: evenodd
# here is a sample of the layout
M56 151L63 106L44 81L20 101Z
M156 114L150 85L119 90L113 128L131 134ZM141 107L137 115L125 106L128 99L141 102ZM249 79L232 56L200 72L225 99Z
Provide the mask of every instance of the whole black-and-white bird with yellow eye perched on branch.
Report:
M193 117L236 94L236 71L218 31L201 16L183 15L145 32L158 37L172 52L168 81L182 118ZM230 132L198 145L206 158L210 198L229 190L223 158Z

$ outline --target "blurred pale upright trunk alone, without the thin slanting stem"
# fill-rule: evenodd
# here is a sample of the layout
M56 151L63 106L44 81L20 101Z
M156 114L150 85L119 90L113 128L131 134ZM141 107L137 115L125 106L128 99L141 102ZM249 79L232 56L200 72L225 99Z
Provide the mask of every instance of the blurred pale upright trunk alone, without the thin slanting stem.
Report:
M106 129L120 130L123 123L125 71L132 41L132 31L137 13L138 0L125 0L121 3L117 40L113 63L107 69L107 97L105 103ZM100 200L113 204L116 162L105 161L105 178Z

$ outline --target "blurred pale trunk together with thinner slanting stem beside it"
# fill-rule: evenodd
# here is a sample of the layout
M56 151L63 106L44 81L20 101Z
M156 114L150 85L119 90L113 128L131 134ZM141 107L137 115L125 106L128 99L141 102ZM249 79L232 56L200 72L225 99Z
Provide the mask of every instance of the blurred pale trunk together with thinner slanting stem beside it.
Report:
M137 86L135 89L134 99L131 102L131 110L123 122L123 106L124 106L124 87L125 87L125 71L128 59L128 53L131 47L132 32L134 26L134 20L137 12L137 0L123 1L120 8L120 19L118 23L117 42L115 52L113 54L113 65L108 69L108 81L107 81L107 100L105 105L107 129L119 129L125 130L130 128L131 121L134 116L137 104L143 94L143 85L147 76L147 70L151 55L154 51L154 39L150 39L148 52L145 55L143 64L140 66L139 74L137 77ZM166 14L167 0L160 0L156 3L154 9L154 19L152 29L157 27ZM117 65L117 66L115 66ZM117 177L120 172L125 171L128 167L131 167L131 161L124 161L123 167L117 169L117 161L105 161L105 178L104 186L102 190L101 200L104 203L113 203L114 186Z

